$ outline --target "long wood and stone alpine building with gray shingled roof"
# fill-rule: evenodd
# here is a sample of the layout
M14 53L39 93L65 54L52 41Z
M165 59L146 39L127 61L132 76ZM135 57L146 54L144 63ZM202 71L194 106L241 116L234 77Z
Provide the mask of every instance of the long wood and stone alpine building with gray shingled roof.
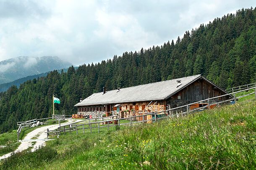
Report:
M119 114L120 117L131 117L159 112L223 94L227 92L199 74L111 91L103 88L103 92L92 94L75 107L78 107L78 114L92 117L101 117L103 114L109 116L110 113ZM229 97L231 96L216 100L222 101ZM117 110L120 112L117 113Z

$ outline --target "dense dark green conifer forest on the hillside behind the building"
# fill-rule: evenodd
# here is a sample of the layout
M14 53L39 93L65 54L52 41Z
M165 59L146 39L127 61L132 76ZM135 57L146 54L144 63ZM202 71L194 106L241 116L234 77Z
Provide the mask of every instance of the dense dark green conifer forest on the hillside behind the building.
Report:
M256 8L215 18L185 31L183 38L152 46L101 63L84 64L67 72L11 86L0 93L0 132L16 129L16 122L49 117L52 94L60 98L55 113L76 112L80 98L95 92L202 74L226 89L256 82Z

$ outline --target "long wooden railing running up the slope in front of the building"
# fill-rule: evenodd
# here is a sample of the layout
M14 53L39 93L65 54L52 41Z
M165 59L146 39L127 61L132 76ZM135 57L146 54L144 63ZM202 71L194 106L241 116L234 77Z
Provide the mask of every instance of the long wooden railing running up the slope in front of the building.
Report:
M249 94L245 94L243 96L237 96L237 97L235 96L235 94L238 94L238 93L243 92L243 91L252 90L252 89L254 89L254 92L251 92ZM133 124L138 124L138 123L141 123L141 122L143 122L143 123L144 122L156 122L159 119L182 117L182 116L185 116L187 114L191 114L191 113L196 112L196 111L201 110L201 109L205 109L205 108L209 109L210 106L212 106L212 105L225 104L229 101L234 101L235 102L238 98L245 97L245 96L248 96L248 95L251 95L251 94L255 94L255 98L256 98L256 86L248 88L248 89L240 90L240 91L235 91L235 92L232 92L232 93L229 93L229 94L224 94L224 95L221 95L221 96L216 96L216 97L212 97L212 98L209 98L209 99L197 101L197 102L194 102L194 103L191 103L191 104L186 104L186 105L183 105L183 106L180 106L180 107L167 109L167 110L160 111L160 112L151 112L151 113L148 113L148 114L142 114L142 115L127 117L127 118L120 118L120 119L117 119L117 116L116 116L116 119L107 119L107 120L104 120L104 117L87 119L87 120L83 120L83 121L86 121L84 123L79 122L79 123L72 123L72 124L68 124L68 125L63 125L63 126L58 127L58 129L56 129L54 131L47 130L47 132L46 132L47 133L47 139L48 139L49 134L59 134L60 135L61 133L65 134L67 132L71 133L71 132L74 132L74 131L77 134L79 129L83 129L83 133L85 133L86 129L89 129L89 131L92 133L92 129L97 128L98 133L99 133L100 129L104 128L104 127L109 130L111 126L119 126L119 127L120 127L120 125L130 125L130 126L132 126ZM219 101L218 100L218 98L224 97L224 96L230 96L230 99L226 99L224 101ZM214 100L214 99L217 99L217 100ZM191 105L198 104L198 103L207 103L207 105L204 106L204 107L196 108L196 109L190 109ZM153 116L154 116L154 118L153 118ZM112 117L114 117L114 116L112 116ZM142 120L140 118L142 118ZM102 119L102 121L97 122L97 119ZM91 122L90 120L95 120L95 122ZM128 122L121 123L121 121L123 121L123 120L128 120ZM112 122L115 122L115 123L111 124Z

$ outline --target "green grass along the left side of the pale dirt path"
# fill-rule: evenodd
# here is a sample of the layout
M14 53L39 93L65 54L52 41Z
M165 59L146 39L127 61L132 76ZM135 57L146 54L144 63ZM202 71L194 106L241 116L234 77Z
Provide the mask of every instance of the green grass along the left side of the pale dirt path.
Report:
M49 122L48 124L44 124L38 127L43 127L43 126L52 125L52 124L56 124L56 122ZM20 140L24 139L26 134L28 134L29 132L32 132L34 129L37 129L38 127L22 129L19 139ZM13 152L18 148L19 145L20 145L20 142L17 142L17 130L0 134L0 146L4 146L4 147L0 147L0 156L5 155L9 152Z

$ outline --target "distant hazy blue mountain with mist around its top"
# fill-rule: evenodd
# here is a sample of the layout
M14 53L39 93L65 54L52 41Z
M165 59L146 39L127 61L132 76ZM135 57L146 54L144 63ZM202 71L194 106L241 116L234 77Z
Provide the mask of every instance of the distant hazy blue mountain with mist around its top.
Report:
M0 62L0 84L69 66L72 66L72 63L63 61L57 56L10 58Z

